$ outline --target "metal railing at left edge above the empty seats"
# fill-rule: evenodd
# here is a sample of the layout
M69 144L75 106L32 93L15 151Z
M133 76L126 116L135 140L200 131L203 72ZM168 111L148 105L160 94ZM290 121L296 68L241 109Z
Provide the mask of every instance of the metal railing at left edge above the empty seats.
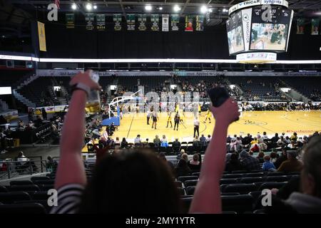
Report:
M0 180L49 171L47 162L42 159L42 156L28 157L27 159L26 161L0 161Z

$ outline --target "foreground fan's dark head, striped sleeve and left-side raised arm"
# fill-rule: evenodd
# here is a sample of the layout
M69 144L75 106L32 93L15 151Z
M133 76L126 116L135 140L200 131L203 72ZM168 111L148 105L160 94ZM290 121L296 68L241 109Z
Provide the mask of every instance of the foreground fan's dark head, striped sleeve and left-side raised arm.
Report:
M90 73L78 73L71 86L82 83L91 90L100 89ZM170 170L150 151L132 150L106 156L87 184L79 150L83 143L86 95L86 90L73 90L56 173L58 206L51 213L179 213L179 195Z

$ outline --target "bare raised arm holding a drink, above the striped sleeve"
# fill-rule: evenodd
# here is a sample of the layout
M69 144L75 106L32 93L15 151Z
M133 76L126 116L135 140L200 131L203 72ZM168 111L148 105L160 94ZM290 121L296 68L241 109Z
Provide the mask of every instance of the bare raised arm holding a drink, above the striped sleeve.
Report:
M91 80L91 71L78 73L71 80L70 85L82 84L89 89L98 90L100 86ZM85 129L85 105L87 93L76 89L71 96L68 113L63 122L60 142L60 160L56 174L55 188L66 184L86 185L86 173L81 159Z

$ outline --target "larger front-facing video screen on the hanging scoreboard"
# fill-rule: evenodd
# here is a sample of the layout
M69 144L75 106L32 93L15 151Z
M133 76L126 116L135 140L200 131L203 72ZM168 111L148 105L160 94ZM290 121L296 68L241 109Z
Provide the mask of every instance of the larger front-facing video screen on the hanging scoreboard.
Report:
M250 50L286 51L292 11L272 9L270 19L265 11L253 10Z

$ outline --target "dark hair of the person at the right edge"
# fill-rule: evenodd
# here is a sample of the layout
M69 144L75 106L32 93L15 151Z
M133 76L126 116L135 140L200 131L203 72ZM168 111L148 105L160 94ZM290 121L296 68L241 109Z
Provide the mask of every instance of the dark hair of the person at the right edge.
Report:
M312 175L315 180L314 195L321 198L321 136L312 137L304 151L302 175Z

